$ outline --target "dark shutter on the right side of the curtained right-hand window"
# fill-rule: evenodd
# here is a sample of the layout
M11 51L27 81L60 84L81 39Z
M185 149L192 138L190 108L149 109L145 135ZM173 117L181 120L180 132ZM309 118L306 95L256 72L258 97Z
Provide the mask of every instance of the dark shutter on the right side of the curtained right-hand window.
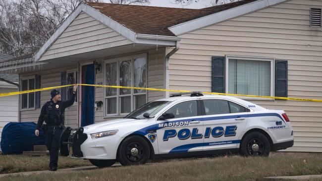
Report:
M275 60L275 96L287 97L287 61Z

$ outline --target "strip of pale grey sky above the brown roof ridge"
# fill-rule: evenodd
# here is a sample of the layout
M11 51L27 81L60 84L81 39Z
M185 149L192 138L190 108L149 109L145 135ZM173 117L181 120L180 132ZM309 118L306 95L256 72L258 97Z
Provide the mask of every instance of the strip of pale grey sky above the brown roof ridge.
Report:
M193 2L189 5L181 5L173 3L174 0L151 0L151 6L161 6L161 7L179 7L179 8L192 8L200 9L204 7L209 7L211 0L199 0L198 2Z

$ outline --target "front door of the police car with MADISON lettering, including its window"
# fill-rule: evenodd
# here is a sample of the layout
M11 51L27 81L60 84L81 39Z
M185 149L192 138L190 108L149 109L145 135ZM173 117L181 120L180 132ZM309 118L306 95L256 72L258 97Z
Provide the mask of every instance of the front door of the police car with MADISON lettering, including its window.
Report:
M173 113L173 119L157 120L161 157L202 154L203 122L198 104L197 99L177 103L165 112Z

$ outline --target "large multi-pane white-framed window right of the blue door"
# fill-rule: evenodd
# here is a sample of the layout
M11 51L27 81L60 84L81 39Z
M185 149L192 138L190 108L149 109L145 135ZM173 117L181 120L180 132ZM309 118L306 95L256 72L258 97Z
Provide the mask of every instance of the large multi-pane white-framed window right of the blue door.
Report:
M147 87L146 55L105 61L105 84L124 87ZM125 115L146 103L146 90L105 89L105 115Z

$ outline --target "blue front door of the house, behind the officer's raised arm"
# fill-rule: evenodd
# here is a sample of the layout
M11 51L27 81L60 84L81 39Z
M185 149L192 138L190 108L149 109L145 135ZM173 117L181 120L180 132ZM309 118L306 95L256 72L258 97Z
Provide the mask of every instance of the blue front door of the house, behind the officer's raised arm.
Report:
M82 66L82 84L95 84L94 64ZM94 124L95 88L82 86L82 116L81 127Z

